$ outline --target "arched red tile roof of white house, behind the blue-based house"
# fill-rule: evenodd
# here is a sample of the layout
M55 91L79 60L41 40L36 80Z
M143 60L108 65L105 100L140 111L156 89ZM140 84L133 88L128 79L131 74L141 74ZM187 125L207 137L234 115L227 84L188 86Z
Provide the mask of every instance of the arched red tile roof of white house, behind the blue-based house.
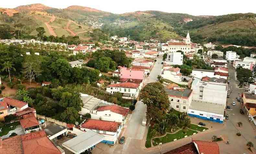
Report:
M111 112L122 114L123 116L127 116L129 113L129 109L123 108L122 106L118 105L107 105L101 106L97 111L107 111L110 110Z

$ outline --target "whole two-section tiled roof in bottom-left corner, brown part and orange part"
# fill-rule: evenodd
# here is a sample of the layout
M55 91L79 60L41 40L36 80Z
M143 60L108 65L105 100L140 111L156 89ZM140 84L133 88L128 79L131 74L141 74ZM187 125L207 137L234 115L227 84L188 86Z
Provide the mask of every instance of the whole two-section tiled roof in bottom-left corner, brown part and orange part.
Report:
M0 140L0 154L61 154L44 130Z

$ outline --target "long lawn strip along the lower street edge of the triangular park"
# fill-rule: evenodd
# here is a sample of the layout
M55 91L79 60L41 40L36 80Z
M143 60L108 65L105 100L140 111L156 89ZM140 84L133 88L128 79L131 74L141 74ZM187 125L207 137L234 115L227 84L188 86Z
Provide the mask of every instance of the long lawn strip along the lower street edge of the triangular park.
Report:
M185 133L184 133L185 132ZM184 138L184 136L190 136L193 135L193 133L196 133L196 131L193 130L189 130L189 129L183 129L178 131L176 134L167 134L166 136L162 137L162 138L156 138L154 139L153 145L156 146L156 143L168 143L168 142L172 142L174 139L182 139Z

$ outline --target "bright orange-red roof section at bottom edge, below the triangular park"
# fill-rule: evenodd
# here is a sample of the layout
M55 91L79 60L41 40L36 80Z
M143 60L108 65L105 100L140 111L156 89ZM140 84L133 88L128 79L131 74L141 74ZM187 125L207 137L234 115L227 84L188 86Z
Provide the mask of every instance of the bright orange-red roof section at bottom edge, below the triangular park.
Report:
M198 147L198 152L204 154L220 154L219 146L216 142L193 140Z

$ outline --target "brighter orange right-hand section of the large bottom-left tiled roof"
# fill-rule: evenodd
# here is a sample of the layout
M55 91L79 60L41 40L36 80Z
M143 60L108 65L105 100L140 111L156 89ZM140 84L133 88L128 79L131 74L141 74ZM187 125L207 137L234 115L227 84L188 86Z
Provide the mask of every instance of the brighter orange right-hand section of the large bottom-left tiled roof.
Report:
M61 154L44 130L21 135L24 154Z

